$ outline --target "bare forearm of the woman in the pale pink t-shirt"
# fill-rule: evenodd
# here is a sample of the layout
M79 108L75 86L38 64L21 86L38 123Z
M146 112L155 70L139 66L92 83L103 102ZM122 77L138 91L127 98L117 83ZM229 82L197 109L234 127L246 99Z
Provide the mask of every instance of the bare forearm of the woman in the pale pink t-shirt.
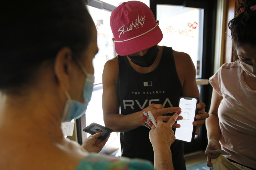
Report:
M217 114L209 113L209 118L206 119L206 129L208 140L215 139L219 141L221 129L219 127L219 118Z

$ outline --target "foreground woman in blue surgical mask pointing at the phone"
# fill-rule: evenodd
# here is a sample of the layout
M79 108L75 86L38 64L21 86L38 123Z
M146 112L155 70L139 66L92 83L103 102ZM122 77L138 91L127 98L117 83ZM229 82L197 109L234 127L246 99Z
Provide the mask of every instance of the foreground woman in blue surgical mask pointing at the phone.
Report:
M97 32L83 1L1 1L0 8L0 169L153 169L91 154L107 141L100 133L82 146L63 137L61 122L85 113L94 82ZM173 168L177 117L150 131L158 169Z

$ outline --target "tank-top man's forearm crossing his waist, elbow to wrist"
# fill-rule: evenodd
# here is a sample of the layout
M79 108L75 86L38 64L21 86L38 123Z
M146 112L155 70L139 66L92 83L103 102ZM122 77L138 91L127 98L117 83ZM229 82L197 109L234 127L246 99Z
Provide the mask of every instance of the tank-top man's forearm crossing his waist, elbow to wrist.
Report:
M142 111L132 114L106 113L104 116L105 126L115 132L126 132L143 125Z

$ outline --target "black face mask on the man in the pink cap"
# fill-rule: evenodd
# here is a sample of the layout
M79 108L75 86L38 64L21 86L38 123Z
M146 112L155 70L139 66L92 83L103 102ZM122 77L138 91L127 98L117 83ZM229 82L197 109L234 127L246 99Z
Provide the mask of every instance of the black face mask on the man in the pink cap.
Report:
M157 45L153 46L149 49L149 51L144 56L128 56L134 64L141 67L149 67L157 58L159 48Z

